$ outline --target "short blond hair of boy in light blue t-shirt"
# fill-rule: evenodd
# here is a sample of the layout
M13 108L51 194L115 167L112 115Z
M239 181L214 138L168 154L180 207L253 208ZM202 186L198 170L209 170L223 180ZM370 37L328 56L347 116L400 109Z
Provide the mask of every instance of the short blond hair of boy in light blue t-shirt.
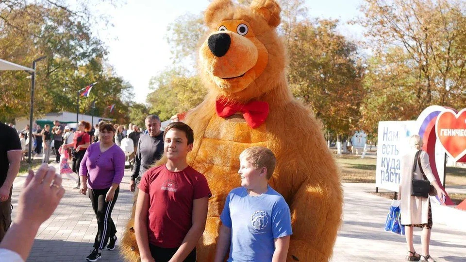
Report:
M241 152L239 158L250 162L255 169L266 167L266 178L270 179L272 177L276 162L272 150L263 146L253 146Z

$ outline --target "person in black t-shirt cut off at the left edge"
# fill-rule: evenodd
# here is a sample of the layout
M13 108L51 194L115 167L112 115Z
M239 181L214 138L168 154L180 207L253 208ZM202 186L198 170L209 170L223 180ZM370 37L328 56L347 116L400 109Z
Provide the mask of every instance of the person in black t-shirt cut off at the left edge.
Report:
M0 241L11 224L11 193L21 162L21 143L15 129L0 123Z

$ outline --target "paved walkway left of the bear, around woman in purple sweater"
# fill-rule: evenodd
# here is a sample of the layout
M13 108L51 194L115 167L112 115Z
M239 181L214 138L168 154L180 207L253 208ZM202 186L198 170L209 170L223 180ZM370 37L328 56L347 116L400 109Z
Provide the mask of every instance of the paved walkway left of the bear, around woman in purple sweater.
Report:
M58 164L52 165L56 165L58 170ZM116 237L119 239L133 205L133 193L129 191L130 178L131 172L127 169L112 212L117 230ZM24 179L25 176L18 176L14 182L13 217ZM73 189L74 186L76 183L73 180L63 176L65 196L52 216L39 228L28 262L83 262L91 253L97 232L97 219L89 197L79 194L78 190ZM118 248L112 251L102 250L101 253L100 261L123 261L119 257Z

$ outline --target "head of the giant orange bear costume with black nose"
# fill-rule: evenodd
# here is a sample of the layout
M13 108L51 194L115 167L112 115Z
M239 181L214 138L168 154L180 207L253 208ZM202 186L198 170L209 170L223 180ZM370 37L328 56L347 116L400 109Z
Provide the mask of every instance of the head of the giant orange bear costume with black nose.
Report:
M207 86L217 87L211 92L246 102L274 87L285 67L275 32L280 11L270 0L255 1L250 8L235 7L230 0L208 7L204 19L212 33L200 47L200 68Z

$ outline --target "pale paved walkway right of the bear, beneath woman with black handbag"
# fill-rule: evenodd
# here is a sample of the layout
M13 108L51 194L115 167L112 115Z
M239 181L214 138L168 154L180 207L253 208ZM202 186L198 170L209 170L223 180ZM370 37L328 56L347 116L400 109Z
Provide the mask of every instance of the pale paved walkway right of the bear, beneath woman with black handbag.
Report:
M332 262L404 261L407 253L404 236L383 230L392 200L367 193L375 190L374 184L343 183L343 189L344 222L338 232ZM414 232L417 252L422 251L420 230L416 228ZM466 231L434 224L431 255L437 262L466 262L465 236Z

